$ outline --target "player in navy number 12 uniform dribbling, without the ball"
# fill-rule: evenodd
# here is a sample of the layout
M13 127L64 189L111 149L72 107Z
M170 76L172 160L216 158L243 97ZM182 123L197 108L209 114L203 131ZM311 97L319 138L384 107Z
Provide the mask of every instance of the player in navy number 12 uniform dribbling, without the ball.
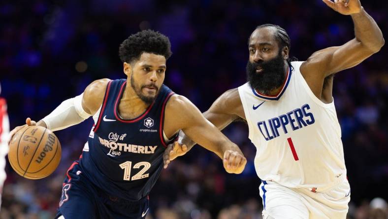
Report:
M139 32L124 40L119 54L128 79L96 80L37 123L26 121L56 131L90 116L95 120L79 161L66 173L59 219L144 218L163 152L179 130L220 156L228 173L244 170L246 159L238 146L187 98L163 85L171 55L167 37Z

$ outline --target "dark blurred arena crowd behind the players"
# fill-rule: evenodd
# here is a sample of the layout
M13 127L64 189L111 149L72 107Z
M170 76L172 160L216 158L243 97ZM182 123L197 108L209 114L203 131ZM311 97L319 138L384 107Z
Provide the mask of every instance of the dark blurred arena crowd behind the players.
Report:
M388 1L361 3L387 38ZM173 55L164 83L202 111L245 82L247 40L260 24L285 28L291 56L299 60L354 37L351 17L321 0L1 0L0 18L1 96L8 101L11 128L28 116L41 119L95 79L125 77L118 47L140 30L170 38ZM387 213L380 199L370 203L388 198L387 55L386 46L334 79L352 188L351 219ZM46 179L23 179L7 164L2 219L53 217L65 172L78 159L91 126L89 119L56 132L62 161ZM256 149L248 128L235 123L224 133L248 158L243 174L226 174L221 159L195 146L162 171L150 194L148 219L261 218Z

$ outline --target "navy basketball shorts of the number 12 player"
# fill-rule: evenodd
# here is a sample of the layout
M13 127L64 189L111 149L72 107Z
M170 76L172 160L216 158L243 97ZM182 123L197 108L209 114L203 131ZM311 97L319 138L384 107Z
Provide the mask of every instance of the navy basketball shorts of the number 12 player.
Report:
M145 219L148 207L148 197L130 202L101 191L83 176L76 161L63 183L55 219Z

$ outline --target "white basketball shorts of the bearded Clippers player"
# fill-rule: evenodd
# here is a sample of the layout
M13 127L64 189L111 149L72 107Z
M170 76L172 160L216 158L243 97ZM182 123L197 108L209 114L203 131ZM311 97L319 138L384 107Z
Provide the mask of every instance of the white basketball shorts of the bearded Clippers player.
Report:
M347 179L322 192L289 188L275 182L260 184L263 219L346 219L350 201Z

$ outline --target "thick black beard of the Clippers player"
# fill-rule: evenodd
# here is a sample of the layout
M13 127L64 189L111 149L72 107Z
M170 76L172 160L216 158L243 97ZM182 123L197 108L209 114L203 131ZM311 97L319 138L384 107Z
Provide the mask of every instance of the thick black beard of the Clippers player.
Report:
M260 73L256 73L257 67L262 68ZM251 63L248 60L246 71L249 85L266 95L271 90L282 86L286 78L284 59L281 53L266 62Z

